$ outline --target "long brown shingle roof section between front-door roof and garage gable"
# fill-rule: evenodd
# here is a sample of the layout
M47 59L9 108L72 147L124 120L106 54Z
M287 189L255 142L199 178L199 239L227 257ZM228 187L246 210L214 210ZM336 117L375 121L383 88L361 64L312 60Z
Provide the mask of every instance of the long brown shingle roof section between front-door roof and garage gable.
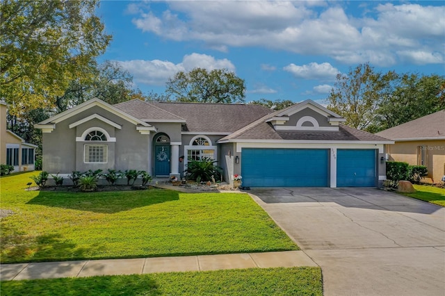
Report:
M273 113L264 106L252 104L150 103L186 120L184 131L195 133L232 133Z

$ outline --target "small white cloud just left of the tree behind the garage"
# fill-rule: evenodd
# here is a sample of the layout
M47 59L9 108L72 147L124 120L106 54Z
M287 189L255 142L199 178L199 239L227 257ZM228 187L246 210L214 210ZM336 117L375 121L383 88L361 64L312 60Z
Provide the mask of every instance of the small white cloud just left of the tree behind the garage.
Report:
M295 64L287 65L284 71L290 72L293 76L302 79L322 79L334 80L339 70L332 67L330 63L309 63L308 65L298 66Z

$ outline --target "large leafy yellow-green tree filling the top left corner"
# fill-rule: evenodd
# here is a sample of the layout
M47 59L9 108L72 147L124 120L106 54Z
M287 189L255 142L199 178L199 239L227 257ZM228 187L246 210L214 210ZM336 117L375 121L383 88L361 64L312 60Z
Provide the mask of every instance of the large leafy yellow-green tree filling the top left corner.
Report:
M50 106L95 67L111 40L95 16L98 0L2 1L0 97L16 115Z

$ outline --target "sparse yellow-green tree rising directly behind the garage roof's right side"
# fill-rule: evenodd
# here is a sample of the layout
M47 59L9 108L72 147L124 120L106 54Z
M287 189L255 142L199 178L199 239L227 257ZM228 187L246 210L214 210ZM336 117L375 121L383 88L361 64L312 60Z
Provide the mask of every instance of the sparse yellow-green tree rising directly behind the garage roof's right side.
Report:
M366 130L373 126L382 97L391 90L388 85L395 77L391 71L376 73L367 63L350 68L348 74L337 74L327 108L346 118L346 125Z

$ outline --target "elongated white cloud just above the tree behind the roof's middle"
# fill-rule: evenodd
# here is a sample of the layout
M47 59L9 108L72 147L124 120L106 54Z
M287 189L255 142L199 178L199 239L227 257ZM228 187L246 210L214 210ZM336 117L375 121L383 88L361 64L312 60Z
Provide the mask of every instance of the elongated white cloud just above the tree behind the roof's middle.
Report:
M168 60L126 60L116 61L133 75L134 81L148 85L165 85L168 79L179 71L188 72L196 67L207 70L228 69L235 71L235 66L227 59L218 60L207 54L190 54L184 56L181 63Z

